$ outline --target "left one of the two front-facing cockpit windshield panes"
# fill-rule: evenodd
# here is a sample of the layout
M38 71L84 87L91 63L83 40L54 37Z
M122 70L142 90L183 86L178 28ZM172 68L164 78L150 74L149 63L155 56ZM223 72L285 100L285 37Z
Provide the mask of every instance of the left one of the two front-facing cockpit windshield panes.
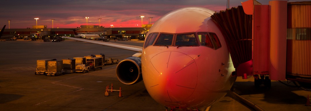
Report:
M173 34L160 34L154 45L172 45Z

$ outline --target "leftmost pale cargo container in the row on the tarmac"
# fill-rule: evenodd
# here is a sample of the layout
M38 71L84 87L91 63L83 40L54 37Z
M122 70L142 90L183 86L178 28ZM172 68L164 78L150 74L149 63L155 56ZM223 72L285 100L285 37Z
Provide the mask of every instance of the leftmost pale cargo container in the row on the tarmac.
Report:
M56 60L56 59L44 59L44 60L37 60L37 67L35 71L35 75L46 75L45 72L48 71L48 61Z

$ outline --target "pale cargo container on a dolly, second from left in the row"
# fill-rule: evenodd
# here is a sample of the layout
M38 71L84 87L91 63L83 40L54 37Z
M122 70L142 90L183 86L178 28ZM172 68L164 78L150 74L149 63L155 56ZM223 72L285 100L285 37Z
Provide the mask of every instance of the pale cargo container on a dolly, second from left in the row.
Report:
M60 74L64 74L63 61L62 60L48 61L48 71L45 73L46 76L57 76Z

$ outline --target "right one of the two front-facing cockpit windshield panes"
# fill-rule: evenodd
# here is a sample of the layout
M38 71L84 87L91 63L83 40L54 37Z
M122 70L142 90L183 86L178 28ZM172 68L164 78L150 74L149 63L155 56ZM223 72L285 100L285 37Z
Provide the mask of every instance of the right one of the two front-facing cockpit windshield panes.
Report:
M198 45L198 44L195 34L191 33L191 34L177 35L175 45Z

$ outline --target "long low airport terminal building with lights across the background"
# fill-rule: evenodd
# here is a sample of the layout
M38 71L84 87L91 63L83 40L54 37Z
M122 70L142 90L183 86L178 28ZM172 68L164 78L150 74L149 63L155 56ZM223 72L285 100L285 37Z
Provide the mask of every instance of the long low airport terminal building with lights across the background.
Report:
M146 33L152 25L143 25L144 27L124 27L124 28L105 28L100 27L99 25L88 25L89 28L86 28L86 25L81 25L81 27L77 28L46 28L46 25L38 25L36 28L36 25L34 25L33 28L26 28L26 29L5 29L3 31L2 36L15 36L17 39L22 39L24 37L30 37L31 35L39 33L46 33L49 37L55 37L55 36L71 36L73 37L74 29L77 30L77 33L96 33L100 36L117 36L117 37L123 37L123 36L131 36L132 39L135 39L140 34L142 36L144 33Z

